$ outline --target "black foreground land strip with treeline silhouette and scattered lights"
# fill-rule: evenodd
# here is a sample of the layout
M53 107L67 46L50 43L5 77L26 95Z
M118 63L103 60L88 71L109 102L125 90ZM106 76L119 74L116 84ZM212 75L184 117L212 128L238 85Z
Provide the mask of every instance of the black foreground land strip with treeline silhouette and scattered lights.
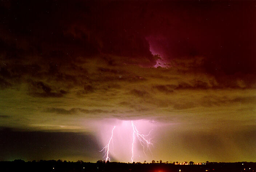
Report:
M175 165L166 163L84 163L55 160L24 162L1 161L1 172L241 172L256 171L256 163L207 163L204 165Z

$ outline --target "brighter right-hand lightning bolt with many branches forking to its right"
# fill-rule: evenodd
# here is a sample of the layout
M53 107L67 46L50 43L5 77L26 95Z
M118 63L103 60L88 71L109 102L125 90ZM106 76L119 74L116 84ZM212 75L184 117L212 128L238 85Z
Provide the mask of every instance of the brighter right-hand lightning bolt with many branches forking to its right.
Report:
M139 140L141 146L143 147L143 152L146 156L144 145L147 145L147 148L151 152L151 150L149 148L149 145L152 144L152 143L150 142L151 139L147 140L147 139L145 139L145 137L147 137L152 130L149 131L149 133L147 135L140 134L139 131L137 130L136 126L133 124L133 122L132 122L132 129L133 129L133 133L132 133L133 139L132 139L132 158L131 158L131 160L133 162L133 146L134 146L135 138L137 137L137 139Z

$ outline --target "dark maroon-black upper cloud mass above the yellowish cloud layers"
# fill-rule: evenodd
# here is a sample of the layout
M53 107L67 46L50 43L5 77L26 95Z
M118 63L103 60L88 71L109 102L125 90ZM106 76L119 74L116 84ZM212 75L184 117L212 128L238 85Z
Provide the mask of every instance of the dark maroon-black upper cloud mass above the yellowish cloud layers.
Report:
M3 45L0 53L3 63L9 65L1 64L0 73L3 77L54 76L78 84L77 77L60 72L65 66L76 73L87 72L72 62L80 63L81 58L90 61L93 56L101 55L109 66L125 63L152 67L157 58L149 51L151 46L180 72L214 75L221 87L255 87L255 3L180 4L179 1L5 1L1 6L4 34L0 37ZM26 64L31 60L29 56L38 64ZM18 64L13 65L14 61ZM41 64L42 61L45 63ZM142 79L126 77L123 71L107 66L98 70L116 75L99 80ZM237 79L242 80L238 86ZM178 89L184 87L190 86L180 84ZM192 87L206 89L209 85L197 83ZM89 92L85 89L85 93ZM54 95L45 95L51 96Z

